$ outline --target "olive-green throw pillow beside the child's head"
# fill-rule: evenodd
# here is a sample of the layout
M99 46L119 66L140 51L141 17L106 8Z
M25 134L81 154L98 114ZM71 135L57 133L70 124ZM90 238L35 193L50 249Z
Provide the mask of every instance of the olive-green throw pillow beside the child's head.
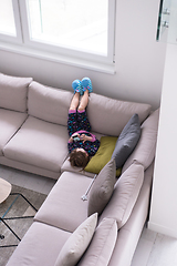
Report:
M102 136L101 145L96 154L91 158L86 167L86 172L98 174L101 170L111 161L115 149L116 136ZM116 171L116 176L121 175L121 168Z

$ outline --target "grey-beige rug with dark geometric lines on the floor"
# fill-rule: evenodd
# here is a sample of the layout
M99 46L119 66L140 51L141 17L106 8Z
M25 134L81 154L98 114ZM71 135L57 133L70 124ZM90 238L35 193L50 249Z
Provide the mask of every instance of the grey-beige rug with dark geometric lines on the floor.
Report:
M46 195L33 192L20 186L12 186L11 193L21 193L37 209L40 208ZM11 206L11 204L13 205ZM11 208L9 208L11 206ZM6 212L9 212L6 214ZM10 195L3 203L0 204L0 217L20 217L20 216L34 216L35 211L29 205L22 196ZM20 219L6 219L6 223L14 231L14 233L22 238L31 224L33 218ZM20 241L8 229L8 227L0 222L0 235L4 238L0 239L2 245L18 245ZM1 247L0 248L0 266L6 266L10 256L17 247Z

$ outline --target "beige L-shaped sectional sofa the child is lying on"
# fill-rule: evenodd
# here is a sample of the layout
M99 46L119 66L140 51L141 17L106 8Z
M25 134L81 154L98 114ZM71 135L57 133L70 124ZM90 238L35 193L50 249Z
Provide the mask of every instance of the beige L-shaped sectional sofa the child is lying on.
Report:
M135 113L142 131L119 177L112 155L95 176L67 160L72 95L0 74L0 163L59 178L8 266L131 265L148 215L159 110L91 93L87 115L97 137L117 139Z

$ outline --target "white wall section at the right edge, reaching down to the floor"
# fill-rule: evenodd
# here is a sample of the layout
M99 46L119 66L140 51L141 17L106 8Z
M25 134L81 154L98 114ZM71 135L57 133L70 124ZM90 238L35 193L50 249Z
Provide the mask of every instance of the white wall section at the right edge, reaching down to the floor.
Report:
M177 238L177 45L168 44L164 72L149 228Z

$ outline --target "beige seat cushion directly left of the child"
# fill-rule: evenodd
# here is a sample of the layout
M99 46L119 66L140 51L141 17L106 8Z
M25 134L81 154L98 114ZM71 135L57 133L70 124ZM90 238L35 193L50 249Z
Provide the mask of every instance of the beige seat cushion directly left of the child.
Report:
M67 156L67 130L29 116L3 153L7 158L60 172Z

